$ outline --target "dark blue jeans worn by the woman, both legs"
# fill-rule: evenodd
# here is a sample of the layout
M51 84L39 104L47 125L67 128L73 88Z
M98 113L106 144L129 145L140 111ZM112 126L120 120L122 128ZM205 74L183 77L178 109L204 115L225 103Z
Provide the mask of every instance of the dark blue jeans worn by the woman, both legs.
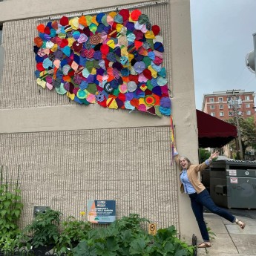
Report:
M224 219L234 223L235 217L230 214L229 211L216 206L214 201L211 199L207 189L203 190L200 194L189 194L189 197L191 200L191 207L194 212L194 216L197 219L201 235L205 242L209 242L209 234L206 228L206 223L203 220L203 206L206 206L206 208L209 209L209 211L212 213L217 214L220 217L223 217Z

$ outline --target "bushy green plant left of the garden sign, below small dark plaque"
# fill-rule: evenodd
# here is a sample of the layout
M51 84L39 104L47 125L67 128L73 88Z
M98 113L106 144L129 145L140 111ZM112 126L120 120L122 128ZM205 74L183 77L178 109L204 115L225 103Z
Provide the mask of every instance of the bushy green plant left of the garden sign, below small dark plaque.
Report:
M58 240L59 222L62 213L47 209L44 213L36 215L33 222L24 228L24 233L32 233L31 246L50 246Z

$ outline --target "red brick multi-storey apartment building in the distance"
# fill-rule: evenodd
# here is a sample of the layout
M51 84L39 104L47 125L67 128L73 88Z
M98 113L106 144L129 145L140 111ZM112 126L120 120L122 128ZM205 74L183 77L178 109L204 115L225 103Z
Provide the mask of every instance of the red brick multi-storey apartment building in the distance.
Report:
M254 91L216 91L204 94L202 111L218 119L226 120L234 116L235 106L237 115L247 118L255 113L254 98Z

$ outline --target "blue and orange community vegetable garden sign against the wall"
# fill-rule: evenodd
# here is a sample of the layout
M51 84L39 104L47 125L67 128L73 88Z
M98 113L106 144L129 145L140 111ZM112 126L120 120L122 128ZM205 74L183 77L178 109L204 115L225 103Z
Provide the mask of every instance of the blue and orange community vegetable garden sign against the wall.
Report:
M88 200L88 221L105 224L116 220L116 201L114 200Z

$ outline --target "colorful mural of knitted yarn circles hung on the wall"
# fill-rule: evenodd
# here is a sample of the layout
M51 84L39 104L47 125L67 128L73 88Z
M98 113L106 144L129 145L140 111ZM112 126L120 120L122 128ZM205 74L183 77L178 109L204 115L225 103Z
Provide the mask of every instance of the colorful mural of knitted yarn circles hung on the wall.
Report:
M36 82L79 104L171 115L163 37L140 10L37 26Z

